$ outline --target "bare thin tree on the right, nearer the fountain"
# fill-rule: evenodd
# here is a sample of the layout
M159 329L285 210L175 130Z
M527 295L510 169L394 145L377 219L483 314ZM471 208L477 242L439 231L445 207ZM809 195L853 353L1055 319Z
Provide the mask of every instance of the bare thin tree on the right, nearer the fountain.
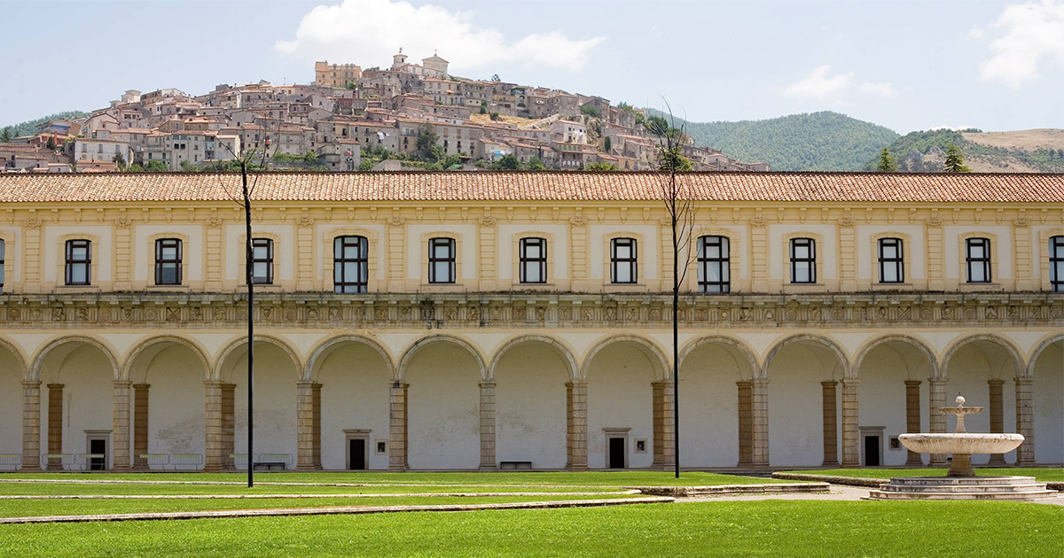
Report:
M683 156L683 125L676 125L672 107L665 103L668 119L647 118L647 130L658 138L659 196L665 204L672 233L672 458L680 478L680 286L687 276L694 251L695 197L683 174L692 168Z

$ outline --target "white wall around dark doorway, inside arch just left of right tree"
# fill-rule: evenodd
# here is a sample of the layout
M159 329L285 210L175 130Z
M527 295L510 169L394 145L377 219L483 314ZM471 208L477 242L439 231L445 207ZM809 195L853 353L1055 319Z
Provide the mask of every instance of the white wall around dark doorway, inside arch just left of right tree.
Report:
M634 345L617 342L595 355L587 371L587 467L606 466L603 428L631 428L629 469L653 464L653 381L651 361ZM647 440L646 453L635 453L637 439Z

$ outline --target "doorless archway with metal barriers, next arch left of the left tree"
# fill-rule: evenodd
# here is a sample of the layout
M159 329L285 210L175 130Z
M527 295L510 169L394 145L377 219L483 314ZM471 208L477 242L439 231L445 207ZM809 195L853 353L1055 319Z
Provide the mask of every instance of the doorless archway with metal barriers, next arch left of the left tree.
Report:
M149 339L133 350L126 367L123 376L133 383L133 466L165 467L165 461L142 457L147 454L199 454L201 459L184 459L180 464L202 466L206 403L203 383L209 377L202 351L176 337Z

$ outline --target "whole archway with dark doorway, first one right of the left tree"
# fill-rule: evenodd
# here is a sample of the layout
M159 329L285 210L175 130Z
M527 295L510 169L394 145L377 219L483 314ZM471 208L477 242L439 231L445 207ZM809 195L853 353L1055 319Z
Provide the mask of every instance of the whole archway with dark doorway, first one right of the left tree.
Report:
M387 353L367 339L340 337L322 344L309 367L321 385L322 469L387 469Z

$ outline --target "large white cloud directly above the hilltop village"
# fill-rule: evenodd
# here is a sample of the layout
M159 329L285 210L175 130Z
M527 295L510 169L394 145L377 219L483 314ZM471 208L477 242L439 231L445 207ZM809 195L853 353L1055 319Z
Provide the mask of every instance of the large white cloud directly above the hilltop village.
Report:
M571 39L561 31L532 33L506 41L495 29L477 28L470 14L426 4L390 0L345 0L319 5L299 22L296 38L275 48L307 60L329 58L363 66L387 66L402 47L413 61L433 51L450 61L452 70L495 69L501 63L522 63L580 70L592 49L604 37Z

